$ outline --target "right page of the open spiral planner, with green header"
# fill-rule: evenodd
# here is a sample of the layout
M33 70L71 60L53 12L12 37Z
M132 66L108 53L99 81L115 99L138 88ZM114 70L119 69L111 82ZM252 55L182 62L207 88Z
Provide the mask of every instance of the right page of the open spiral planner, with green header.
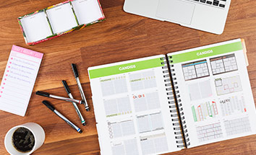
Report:
M189 147L255 134L255 102L241 40L170 53L168 58Z

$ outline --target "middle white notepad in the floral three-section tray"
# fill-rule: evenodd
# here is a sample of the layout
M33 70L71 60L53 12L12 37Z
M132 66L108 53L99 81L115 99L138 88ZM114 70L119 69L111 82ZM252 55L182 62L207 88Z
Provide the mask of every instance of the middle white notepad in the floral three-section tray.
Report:
M78 26L69 3L46 10L54 33L65 32Z

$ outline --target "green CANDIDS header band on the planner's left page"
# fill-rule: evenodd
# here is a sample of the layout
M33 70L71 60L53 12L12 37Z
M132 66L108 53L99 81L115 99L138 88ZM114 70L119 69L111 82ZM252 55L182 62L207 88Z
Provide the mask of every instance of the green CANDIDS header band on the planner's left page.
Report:
M115 74L124 74L132 71L140 71L148 68L155 68L164 66L161 58L153 58L147 61L139 61L135 63L120 64L117 66L110 66L106 68L98 68L89 70L90 79L95 79L103 76L111 76Z

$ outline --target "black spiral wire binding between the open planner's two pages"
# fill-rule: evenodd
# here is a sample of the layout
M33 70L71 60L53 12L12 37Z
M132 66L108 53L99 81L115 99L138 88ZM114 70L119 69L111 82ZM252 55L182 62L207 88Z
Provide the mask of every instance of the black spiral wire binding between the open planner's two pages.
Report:
M163 77L166 86L166 94L168 95L168 105L171 113L171 121L174 126L174 134L176 135L176 144L178 148L187 148L189 143L189 134L187 131L186 120L184 117L182 99L179 95L179 87L176 81L176 74L174 73L174 66L169 65L166 58L161 58L163 61ZM171 56L168 56L168 62L172 63ZM170 69L168 69L170 68ZM171 76L170 76L171 75Z

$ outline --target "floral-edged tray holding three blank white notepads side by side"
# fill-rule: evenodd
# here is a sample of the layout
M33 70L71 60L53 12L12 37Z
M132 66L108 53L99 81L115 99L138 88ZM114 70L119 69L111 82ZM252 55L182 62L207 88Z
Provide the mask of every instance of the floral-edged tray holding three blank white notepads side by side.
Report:
M19 17L28 45L80 30L105 19L98 0L68 0Z

